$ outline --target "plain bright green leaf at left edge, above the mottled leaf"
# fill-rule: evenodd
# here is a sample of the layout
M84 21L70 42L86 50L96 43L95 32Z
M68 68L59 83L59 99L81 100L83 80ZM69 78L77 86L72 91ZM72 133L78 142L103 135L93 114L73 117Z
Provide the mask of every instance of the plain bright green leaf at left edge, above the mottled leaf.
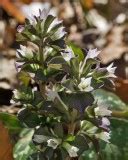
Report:
M17 132L22 129L22 125L15 115L0 112L0 120L4 123L10 132Z

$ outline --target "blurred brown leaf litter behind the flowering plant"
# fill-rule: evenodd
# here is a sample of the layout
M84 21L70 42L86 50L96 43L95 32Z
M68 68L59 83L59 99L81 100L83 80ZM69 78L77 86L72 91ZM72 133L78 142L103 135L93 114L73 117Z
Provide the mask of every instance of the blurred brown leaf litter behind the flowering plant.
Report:
M98 48L103 66L114 62L116 89L107 90L127 104L128 0L0 0L0 112L16 114L20 108L10 104L12 91L18 86L16 28L24 24L25 17L43 8L63 20L74 47Z

